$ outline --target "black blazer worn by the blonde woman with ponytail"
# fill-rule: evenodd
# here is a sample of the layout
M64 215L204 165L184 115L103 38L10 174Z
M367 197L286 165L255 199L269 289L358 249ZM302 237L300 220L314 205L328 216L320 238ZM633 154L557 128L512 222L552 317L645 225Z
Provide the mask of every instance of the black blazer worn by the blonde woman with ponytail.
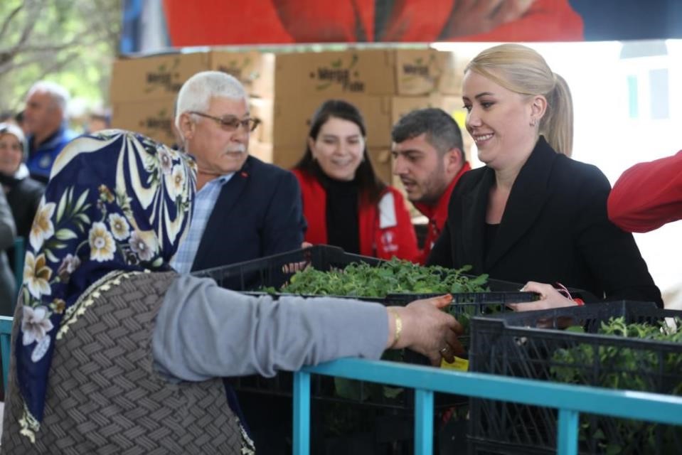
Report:
M585 289L599 298L654 301L651 279L632 234L607 218L611 186L602 171L557 154L540 137L513 183L498 231L484 245L486 208L495 173L465 173L452 192L447 223L427 264L524 284Z

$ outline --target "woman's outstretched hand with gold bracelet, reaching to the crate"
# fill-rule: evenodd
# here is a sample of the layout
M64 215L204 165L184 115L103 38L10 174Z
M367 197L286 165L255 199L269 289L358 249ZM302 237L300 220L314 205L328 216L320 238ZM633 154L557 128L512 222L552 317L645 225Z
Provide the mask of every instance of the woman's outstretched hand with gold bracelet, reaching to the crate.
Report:
M457 319L442 311L451 301L452 296L447 294L415 300L407 306L391 306L390 309L400 315L402 331L394 344L395 326L391 321L388 346L410 348L427 356L432 365L440 365L442 358L454 362L454 355L464 354L462 343L457 339L464 329Z

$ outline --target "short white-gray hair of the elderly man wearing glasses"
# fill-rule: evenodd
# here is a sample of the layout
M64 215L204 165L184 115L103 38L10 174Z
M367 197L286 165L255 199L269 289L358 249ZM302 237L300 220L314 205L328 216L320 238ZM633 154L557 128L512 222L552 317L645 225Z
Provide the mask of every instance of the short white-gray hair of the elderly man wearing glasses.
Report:
M180 116L184 112L206 112L213 97L248 101L246 91L236 77L220 71L196 73L182 85L178 93L175 126L180 129Z

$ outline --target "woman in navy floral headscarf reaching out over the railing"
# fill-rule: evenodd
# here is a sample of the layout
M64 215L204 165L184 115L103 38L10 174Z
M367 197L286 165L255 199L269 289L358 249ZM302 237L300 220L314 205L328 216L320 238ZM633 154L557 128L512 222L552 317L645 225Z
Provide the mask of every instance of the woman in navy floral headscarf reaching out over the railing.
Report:
M457 346L457 321L437 310L448 299L388 317L378 304L273 302L179 276L169 262L194 174L183 154L114 130L58 156L14 318L5 451L249 454L220 377L378 358L387 347L436 362L443 343Z

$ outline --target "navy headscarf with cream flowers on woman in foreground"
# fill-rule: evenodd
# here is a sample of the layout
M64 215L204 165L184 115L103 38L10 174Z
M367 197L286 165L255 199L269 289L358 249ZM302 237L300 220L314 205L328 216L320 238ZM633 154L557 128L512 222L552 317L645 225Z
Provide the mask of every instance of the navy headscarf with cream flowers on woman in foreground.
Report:
M56 159L28 238L16 342L22 434L40 429L55 340L78 298L114 271L164 271L191 218L196 165L142 135L105 130ZM78 304L77 304L78 303Z

